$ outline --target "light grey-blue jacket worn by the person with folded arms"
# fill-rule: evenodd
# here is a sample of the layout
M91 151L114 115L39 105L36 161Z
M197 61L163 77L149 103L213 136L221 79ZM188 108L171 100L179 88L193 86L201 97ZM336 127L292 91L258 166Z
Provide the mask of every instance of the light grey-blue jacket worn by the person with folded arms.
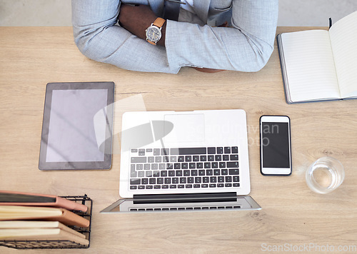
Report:
M121 2L149 5L157 16L164 11L164 0L72 0L74 39L85 56L132 71L178 73L183 66L258 71L273 52L278 0L194 0L194 18L206 25L168 20L165 47L117 24ZM224 21L230 27L216 27Z

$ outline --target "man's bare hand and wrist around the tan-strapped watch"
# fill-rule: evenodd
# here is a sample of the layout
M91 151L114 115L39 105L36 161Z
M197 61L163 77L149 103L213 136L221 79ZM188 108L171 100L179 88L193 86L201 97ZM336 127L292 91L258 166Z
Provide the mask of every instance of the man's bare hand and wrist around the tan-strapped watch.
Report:
M151 11L149 6L139 5L132 6L129 4L121 4L119 13L119 22L124 29L146 40L145 30L155 21L157 16L154 11ZM165 46L165 31L166 22L161 29L161 39L157 42L158 45Z

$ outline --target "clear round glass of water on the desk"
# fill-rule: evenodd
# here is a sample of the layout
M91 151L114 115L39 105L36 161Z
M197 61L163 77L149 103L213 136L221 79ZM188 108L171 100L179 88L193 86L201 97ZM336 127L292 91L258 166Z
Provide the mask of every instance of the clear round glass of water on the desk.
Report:
M329 193L341 186L345 171L340 161L322 157L311 164L306 171L306 183L316 193Z

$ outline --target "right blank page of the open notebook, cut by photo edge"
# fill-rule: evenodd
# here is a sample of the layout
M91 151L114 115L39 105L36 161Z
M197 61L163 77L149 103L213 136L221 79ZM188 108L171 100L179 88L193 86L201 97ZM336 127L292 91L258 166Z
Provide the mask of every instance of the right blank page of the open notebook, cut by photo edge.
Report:
M357 11L330 29L341 96L357 96Z

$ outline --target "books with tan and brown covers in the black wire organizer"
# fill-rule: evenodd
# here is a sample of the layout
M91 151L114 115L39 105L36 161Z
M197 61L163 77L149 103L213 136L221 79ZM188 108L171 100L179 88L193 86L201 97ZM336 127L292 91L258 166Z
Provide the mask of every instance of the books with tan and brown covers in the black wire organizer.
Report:
M0 241L59 241L89 245L86 235L70 228L88 228L89 220L74 211L86 205L56 195L0 191Z

